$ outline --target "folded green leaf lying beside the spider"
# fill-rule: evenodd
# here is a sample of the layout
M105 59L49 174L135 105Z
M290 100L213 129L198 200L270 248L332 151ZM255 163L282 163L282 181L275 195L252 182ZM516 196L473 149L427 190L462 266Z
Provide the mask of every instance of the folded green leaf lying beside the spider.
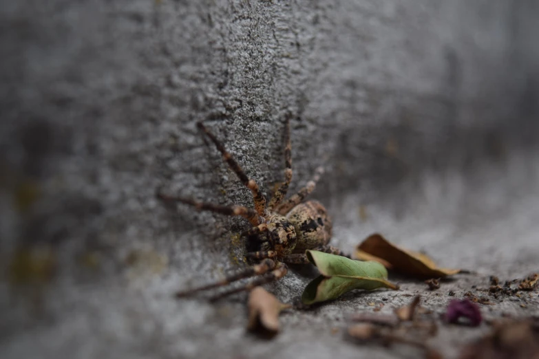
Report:
M307 250L310 263L321 273L310 282L302 294L304 304L330 301L350 290L374 290L379 287L398 289L387 281L388 270L376 261L352 261L346 257Z

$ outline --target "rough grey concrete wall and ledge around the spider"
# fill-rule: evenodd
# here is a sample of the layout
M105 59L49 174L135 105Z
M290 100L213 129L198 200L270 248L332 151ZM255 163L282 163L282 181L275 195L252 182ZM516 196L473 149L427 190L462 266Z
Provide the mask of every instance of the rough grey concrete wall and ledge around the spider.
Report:
M538 271L539 8L534 1L1 1L1 358L417 358L357 345L350 315ZM164 206L249 191L204 121L271 195L293 116L293 185L346 252L372 232L465 268L430 292L355 291L246 333L245 294L176 301L246 265L242 219ZM267 289L297 301L312 268ZM391 278L391 276L390 276ZM475 287L474 287L475 286ZM538 313L538 292L488 318ZM488 331L443 326L447 358Z

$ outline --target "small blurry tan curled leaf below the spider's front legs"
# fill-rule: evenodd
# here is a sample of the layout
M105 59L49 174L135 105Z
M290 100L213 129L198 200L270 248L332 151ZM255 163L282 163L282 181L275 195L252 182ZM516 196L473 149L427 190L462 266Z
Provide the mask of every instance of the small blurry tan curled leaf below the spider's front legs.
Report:
M275 335L279 331L279 313L291 305L281 303L262 287L249 294L249 323L247 329Z

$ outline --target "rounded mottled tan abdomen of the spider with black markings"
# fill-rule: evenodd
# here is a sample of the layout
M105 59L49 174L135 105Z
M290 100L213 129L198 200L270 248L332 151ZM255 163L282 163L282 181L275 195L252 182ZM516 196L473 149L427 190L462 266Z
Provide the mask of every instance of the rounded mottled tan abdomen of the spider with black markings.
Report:
M332 220L326 208L317 201L298 204L286 214L286 219L294 226L297 243L295 253L325 246L331 239Z

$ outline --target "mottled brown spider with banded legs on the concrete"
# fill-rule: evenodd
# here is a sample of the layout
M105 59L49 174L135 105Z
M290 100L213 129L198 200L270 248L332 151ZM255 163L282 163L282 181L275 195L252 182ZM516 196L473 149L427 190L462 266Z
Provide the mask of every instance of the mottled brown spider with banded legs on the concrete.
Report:
M284 135L284 178L266 205L266 197L262 195L254 179L247 177L232 155L226 151L223 144L204 126L201 122L197 127L202 131L202 135L215 144L223 156L223 160L235 172L242 184L251 190L253 194L254 209L244 206L219 206L216 204L198 202L193 199L166 195L158 191L158 198L165 202L181 202L193 206L196 210L208 210L214 213L221 213L229 216L244 217L253 226L242 233L242 237L247 237L254 244L256 249L247 252L247 259L255 261L255 265L226 276L222 281L195 287L190 290L177 292L176 297L191 296L202 290L209 290L215 287L229 285L240 279L255 277L248 283L240 287L223 292L213 299L222 298L229 294L252 290L258 285L264 285L272 281L277 281L286 275L288 267L286 263L309 263L305 250L319 250L322 252L339 254L349 257L339 248L329 246L331 239L332 220L326 212L326 208L317 201L303 202L305 197L315 189L319 177L324 173L323 167L318 167L313 179L307 182L295 195L284 199L288 191L288 186L292 179L292 159L290 144L290 118L285 120Z

